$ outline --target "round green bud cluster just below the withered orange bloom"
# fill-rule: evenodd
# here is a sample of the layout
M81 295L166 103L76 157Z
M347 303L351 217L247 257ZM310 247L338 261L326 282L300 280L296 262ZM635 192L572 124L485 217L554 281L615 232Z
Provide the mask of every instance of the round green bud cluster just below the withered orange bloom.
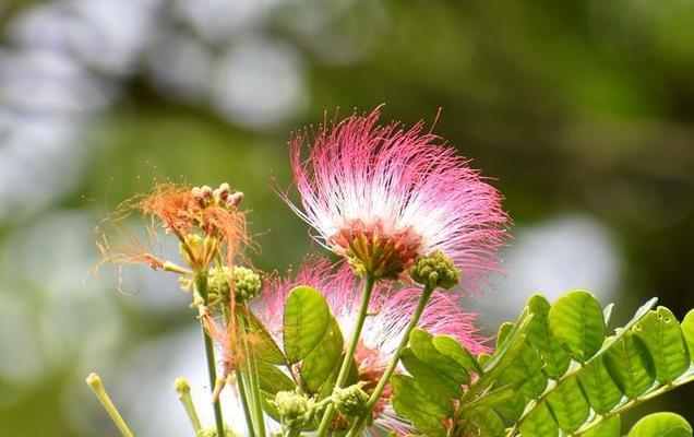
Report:
M225 302L231 299L230 288L234 285L234 297L237 303L249 302L256 297L262 288L260 274L251 269L226 265L210 269L210 293L220 296Z

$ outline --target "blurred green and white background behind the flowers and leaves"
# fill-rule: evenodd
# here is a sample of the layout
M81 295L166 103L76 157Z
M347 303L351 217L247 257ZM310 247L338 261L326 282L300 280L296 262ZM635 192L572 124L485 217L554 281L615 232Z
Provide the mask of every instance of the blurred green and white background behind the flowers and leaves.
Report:
M289 132L337 107L441 107L436 132L498 178L506 274L467 303L489 332L536 291L593 290L620 321L653 295L694 307L689 0L2 0L0 32L1 436L116 435L91 370L140 436L189 435L179 375L210 417L189 296L91 273L93 229L155 180L227 180L254 263L296 265L321 249L272 186ZM694 418L692 395L637 413Z

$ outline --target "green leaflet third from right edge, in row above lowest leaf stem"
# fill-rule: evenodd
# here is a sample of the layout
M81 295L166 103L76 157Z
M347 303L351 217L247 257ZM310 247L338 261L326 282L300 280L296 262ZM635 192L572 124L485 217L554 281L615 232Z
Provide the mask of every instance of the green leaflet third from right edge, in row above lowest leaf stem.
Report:
M650 388L655 369L643 342L625 331L619 342L605 354L608 374L629 399L636 399Z

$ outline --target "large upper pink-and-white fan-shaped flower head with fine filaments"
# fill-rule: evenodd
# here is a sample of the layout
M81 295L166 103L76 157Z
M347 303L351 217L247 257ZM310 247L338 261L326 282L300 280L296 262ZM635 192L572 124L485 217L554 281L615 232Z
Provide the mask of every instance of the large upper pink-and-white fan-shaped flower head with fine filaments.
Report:
M416 256L440 250L472 285L498 265L508 223L499 191L422 132L423 122L383 127L380 111L320 126L312 139L307 130L295 134L291 164L303 209L290 206L359 273L397 279Z

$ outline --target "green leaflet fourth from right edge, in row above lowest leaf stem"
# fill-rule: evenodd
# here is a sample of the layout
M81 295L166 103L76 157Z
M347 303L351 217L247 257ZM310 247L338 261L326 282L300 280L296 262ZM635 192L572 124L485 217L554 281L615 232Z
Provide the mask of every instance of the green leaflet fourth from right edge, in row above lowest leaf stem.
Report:
M608 413L622 400L622 391L607 371L603 358L598 356L578 373L578 382L598 414Z

